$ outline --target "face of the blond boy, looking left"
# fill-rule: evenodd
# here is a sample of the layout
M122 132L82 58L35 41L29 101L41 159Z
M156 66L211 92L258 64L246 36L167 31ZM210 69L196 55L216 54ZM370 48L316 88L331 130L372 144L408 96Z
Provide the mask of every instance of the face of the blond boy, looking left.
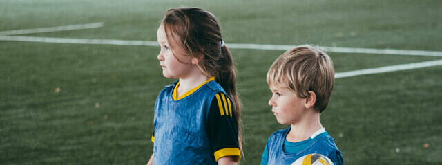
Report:
M288 87L270 86L271 112L280 124L296 124L305 115L305 99L298 98Z

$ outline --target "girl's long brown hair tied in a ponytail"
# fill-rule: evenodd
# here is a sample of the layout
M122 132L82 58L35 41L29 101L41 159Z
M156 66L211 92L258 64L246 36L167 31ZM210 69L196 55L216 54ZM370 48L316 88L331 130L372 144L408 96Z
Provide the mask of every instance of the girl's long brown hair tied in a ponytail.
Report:
M198 67L203 74L214 76L232 99L238 123L238 143L242 152L241 104L236 92L235 66L229 49L221 44L220 25L216 17L200 8L171 8L166 11L162 25L168 40L181 45L186 56L200 59ZM177 59L180 60L178 57Z

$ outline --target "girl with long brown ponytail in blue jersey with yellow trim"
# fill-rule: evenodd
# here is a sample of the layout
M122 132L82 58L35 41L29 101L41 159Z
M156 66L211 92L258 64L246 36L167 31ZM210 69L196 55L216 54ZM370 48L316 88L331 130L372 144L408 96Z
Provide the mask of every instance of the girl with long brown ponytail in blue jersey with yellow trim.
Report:
M200 8L167 10L157 30L166 78L155 102L148 164L236 164L241 159L235 68L215 16Z

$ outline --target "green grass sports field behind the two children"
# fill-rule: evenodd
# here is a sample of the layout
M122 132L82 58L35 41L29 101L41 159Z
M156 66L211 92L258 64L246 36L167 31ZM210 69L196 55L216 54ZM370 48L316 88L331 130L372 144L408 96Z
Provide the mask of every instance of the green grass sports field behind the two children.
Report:
M103 22L102 28L19 34L156 41L168 8L215 14L224 41L442 51L442 1L0 1L0 32ZM174 80L158 47L0 41L0 164L146 164L153 104ZM283 50L231 49L243 104L244 159L259 164L282 129L267 69ZM442 56L329 52L336 72ZM442 164L442 65L338 78L323 126L345 164Z

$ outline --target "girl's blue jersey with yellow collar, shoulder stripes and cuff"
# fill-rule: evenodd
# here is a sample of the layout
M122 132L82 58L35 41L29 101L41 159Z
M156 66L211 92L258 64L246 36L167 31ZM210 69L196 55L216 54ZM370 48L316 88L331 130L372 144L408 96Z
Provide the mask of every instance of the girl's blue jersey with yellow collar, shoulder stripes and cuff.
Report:
M206 130L213 100L218 100L220 108L222 104L228 105L222 108L224 111L217 110L221 113L219 116L231 118L234 115L228 104L231 99L224 89L211 78L195 91L177 98L174 95L177 86L177 82L166 86L155 102L153 164L217 164L219 157L240 156L238 144L214 149ZM237 137L238 134L233 138Z

